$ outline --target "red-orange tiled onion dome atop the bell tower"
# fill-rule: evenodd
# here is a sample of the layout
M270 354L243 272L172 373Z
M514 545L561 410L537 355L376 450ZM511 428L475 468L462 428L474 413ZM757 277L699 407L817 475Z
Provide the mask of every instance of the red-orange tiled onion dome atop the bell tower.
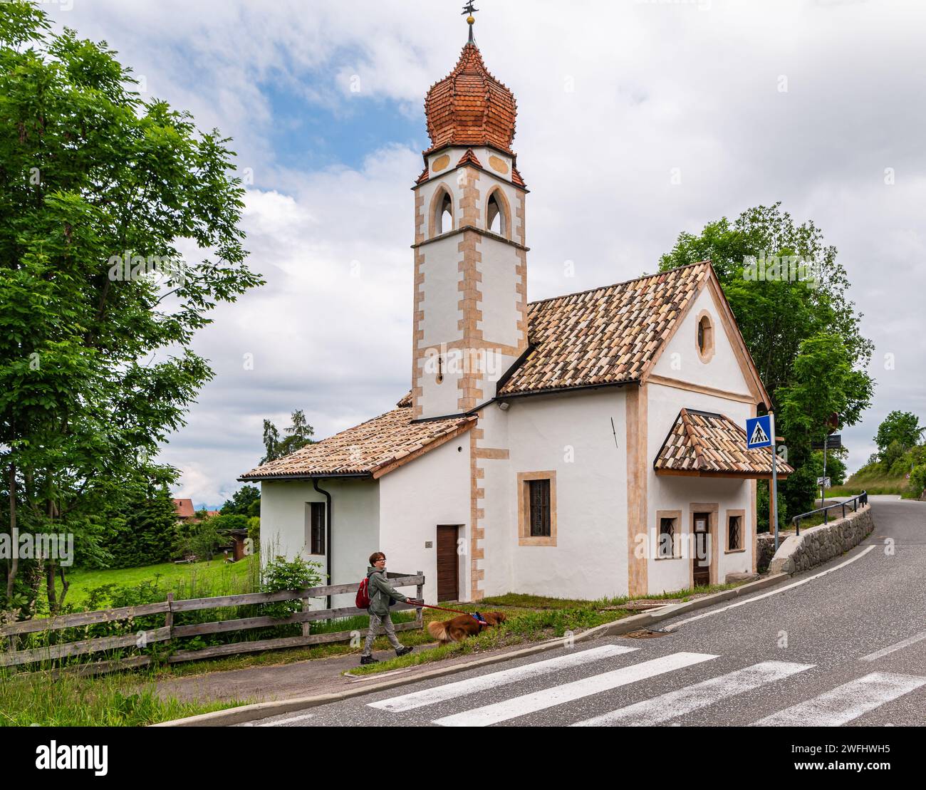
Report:
M435 82L424 100L431 148L444 145L494 145L511 152L518 114L514 94L482 62L476 44L466 44L457 66Z

